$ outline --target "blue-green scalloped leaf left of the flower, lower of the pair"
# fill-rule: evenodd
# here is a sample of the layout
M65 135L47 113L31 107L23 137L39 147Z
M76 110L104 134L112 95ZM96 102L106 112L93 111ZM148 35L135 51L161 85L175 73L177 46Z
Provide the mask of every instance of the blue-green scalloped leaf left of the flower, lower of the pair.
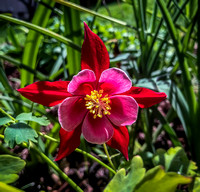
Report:
M29 140L37 142L35 137L38 135L34 129L25 123L12 124L5 129L5 142L8 143L10 148L13 148L15 144L21 144L28 142Z

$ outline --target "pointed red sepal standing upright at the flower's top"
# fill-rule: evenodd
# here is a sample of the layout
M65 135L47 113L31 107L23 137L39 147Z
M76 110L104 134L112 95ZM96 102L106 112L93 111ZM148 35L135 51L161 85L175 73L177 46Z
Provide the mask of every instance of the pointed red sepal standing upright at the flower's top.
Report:
M81 49L81 69L94 71L98 80L102 71L109 68L108 51L103 41L90 30L85 22L84 27L85 37Z

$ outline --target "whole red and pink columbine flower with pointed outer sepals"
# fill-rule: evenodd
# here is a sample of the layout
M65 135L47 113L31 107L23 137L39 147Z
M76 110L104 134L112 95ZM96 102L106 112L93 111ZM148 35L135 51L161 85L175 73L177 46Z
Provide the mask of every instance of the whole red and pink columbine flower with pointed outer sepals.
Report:
M59 103L60 147L56 160L80 145L80 135L95 144L106 143L128 159L129 134L125 127L137 119L138 106L155 105L166 98L146 88L132 87L117 68L109 69L109 55L102 40L85 25L81 68L68 81L36 82L18 91L33 102L51 107Z

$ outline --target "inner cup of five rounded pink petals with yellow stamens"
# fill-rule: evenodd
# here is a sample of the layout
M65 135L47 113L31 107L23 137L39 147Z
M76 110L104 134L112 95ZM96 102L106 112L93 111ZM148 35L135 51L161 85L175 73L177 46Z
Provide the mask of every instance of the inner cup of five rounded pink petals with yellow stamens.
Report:
M99 79L92 70L82 70L68 85L67 90L72 96L58 109L62 128L70 132L80 125L88 142L106 143L113 136L114 125L131 125L137 119L135 99L119 95L130 88L131 80L120 69L106 69Z

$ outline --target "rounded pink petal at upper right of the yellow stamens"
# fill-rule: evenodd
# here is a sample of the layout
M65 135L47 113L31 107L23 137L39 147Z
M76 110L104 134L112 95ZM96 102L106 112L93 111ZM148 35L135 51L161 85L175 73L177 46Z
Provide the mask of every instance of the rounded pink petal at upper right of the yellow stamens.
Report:
M132 86L132 82L126 73L118 68L110 68L103 71L99 83L99 89L103 89L109 95L123 93Z

